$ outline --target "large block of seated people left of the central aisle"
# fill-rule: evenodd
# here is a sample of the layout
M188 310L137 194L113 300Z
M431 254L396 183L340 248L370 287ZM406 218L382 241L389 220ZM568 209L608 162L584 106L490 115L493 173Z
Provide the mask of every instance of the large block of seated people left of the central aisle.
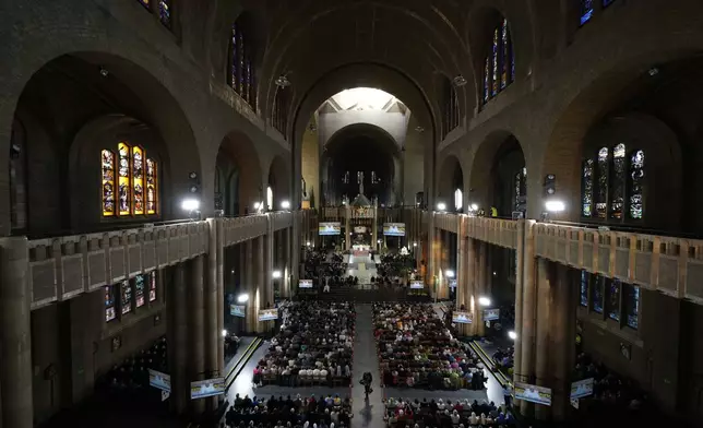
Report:
M349 384L356 312L350 304L299 301L254 369L255 384Z

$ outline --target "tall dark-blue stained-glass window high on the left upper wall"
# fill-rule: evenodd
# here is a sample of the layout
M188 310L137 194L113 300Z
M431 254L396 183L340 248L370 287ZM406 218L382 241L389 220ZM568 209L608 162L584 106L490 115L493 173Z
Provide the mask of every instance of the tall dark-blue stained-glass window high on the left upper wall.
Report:
M249 26L239 17L231 26L229 40L229 86L257 111L257 68Z

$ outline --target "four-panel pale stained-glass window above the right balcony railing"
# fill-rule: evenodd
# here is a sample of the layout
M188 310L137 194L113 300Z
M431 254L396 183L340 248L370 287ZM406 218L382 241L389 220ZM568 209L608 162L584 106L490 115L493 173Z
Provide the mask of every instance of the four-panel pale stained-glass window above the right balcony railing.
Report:
M595 210L594 210L595 206ZM627 145L600 147L582 163L583 217L642 219L644 213L644 151L628 156Z

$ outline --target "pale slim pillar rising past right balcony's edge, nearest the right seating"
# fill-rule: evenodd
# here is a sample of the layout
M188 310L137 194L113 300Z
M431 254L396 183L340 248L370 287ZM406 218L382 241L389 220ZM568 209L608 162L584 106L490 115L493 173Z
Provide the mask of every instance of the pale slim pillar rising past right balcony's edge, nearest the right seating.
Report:
M535 345L535 317L536 317L536 294L535 281L535 242L533 239L534 219L525 222L525 246L523 264L523 310L522 310L522 347L520 361L521 382L531 382L534 377L534 345ZM528 411L528 403L522 402L523 414Z

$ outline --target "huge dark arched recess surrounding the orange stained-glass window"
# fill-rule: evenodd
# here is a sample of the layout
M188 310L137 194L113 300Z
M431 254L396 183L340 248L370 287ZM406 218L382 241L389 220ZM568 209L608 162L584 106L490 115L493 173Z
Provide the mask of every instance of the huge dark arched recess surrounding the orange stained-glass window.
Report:
M135 216L105 222L97 215L100 193L97 190L76 191L71 186L78 174L75 153L87 150L85 144L91 145L84 141L82 132L90 129L94 134L107 136L115 131L109 121L98 120L106 116L131 117L131 133L152 130L152 143L146 145L159 146L159 157L164 159L162 171L168 171L162 176L167 178L162 178L162 185L166 187L163 188L158 218L180 217L181 213L174 204L189 193L188 173L201 171L200 152L184 111L170 91L139 64L111 54L82 51L43 63L16 98L14 118L24 123L25 129L31 126L26 132L27 170L32 174L27 179L27 234L31 236L59 230L88 231L109 227L115 221L153 221ZM94 129L96 123L104 128ZM95 150L93 156L83 153L86 160L82 165L98 171L87 176L97 182L100 157L99 148ZM3 163L0 173L8 166L3 160L8 153L2 151L0 154ZM94 159L95 165L88 167L88 158ZM83 179L86 185L92 181ZM91 209L83 212L76 206Z

